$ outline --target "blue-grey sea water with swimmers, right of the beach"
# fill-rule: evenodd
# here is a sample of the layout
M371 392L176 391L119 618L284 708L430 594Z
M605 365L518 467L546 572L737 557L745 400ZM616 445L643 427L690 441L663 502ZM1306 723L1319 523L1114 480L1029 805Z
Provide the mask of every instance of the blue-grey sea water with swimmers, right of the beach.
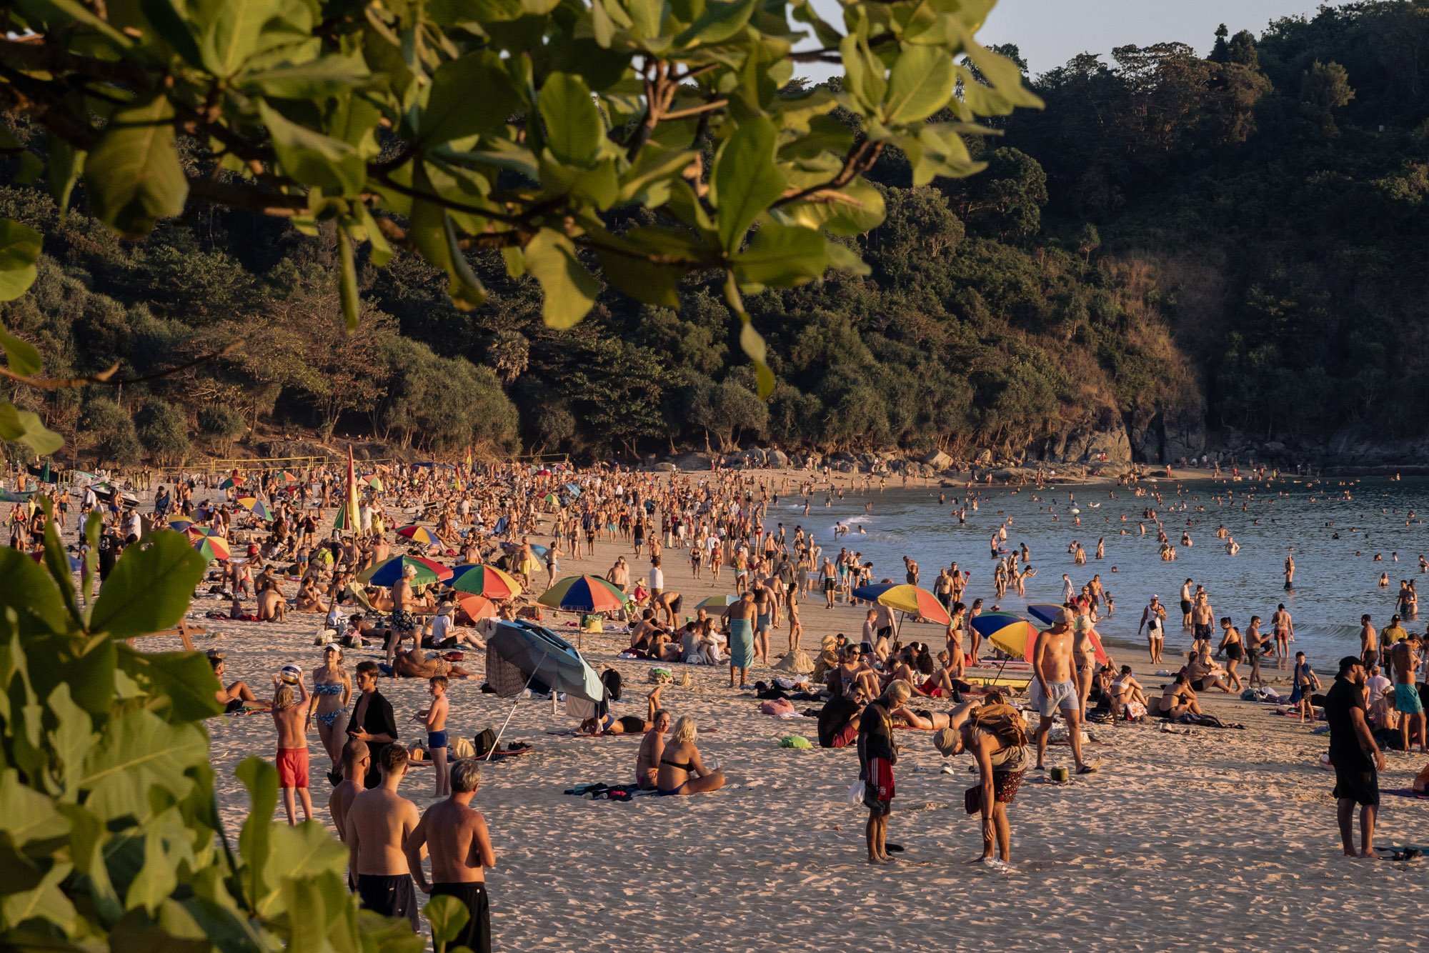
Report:
M1360 614L1369 613L1376 627L1389 623L1402 579L1416 580L1418 589L1429 582L1429 574L1419 572L1420 553L1429 554L1429 532L1420 516L1429 512L1429 479L1152 479L1140 487L1145 496L1110 484L1053 484L1042 490L980 486L973 490L979 509L966 506L966 524L957 522L957 510L969 499L962 483L889 486L882 493L876 487L865 493L846 490L827 507L825 494L816 493L809 499L809 516L803 516L802 496L785 494L770 509L766 527L783 523L790 536L796 526L812 530L827 556L847 546L873 563L875 580L905 582L903 556L910 556L920 566L919 583L929 590L937 570L956 560L960 570L972 572L963 602L972 604L980 597L985 609L996 603L1020 613L1029 603L1059 603L1062 573L1072 577L1076 592L1100 574L1103 587L1116 597L1116 613L1099 622L1097 630L1109 640L1145 646L1136 627L1150 596L1159 594L1167 613L1167 656L1190 646L1179 604L1186 579L1210 594L1218 643L1222 616L1230 616L1242 630L1252 614L1260 616L1262 632L1269 634L1270 616L1285 603L1295 622L1292 649L1306 652L1322 666L1358 653ZM939 504L939 493L946 494L946 503ZM1160 503L1155 493L1162 494ZM865 512L866 503L873 504L872 510ZM1080 526L1072 507L1080 510ZM1145 519L1146 507L1156 510L1176 547L1173 562L1160 559L1157 527ZM847 536L835 537L837 523L849 527ZM1007 540L1002 546L1010 552L1026 543L1029 562L1037 570L1026 597L1009 589L997 599L993 589L996 563L989 540L1005 523ZM1139 524L1146 526L1145 534ZM1225 542L1216 539L1219 526L1240 544L1238 554L1228 554ZM1190 533L1192 546L1182 546L1183 532ZM1096 559L1099 539L1106 540L1105 559ZM1073 564L1067 552L1073 540L1086 550L1085 566ZM1285 557L1292 546L1295 587L1286 590ZM1399 562L1392 560L1392 553L1399 554ZM1376 554L1382 562L1373 562ZM1389 573L1386 589L1379 587L1380 573ZM817 592L810 597L822 603ZM857 632L857 624L850 624ZM1410 622L1405 626L1423 630ZM927 634L929 642L937 640L932 627ZM906 637L917 639L913 632Z

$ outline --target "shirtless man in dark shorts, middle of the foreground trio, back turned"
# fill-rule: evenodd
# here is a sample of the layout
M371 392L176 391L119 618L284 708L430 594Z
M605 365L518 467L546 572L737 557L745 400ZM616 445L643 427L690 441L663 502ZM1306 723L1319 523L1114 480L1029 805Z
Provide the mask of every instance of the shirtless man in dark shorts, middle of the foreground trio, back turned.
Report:
M407 773L407 749L389 744L379 756L382 783L360 792L347 809L343 840L347 842L347 873L357 884L362 906L389 917L406 917L417 924L417 892L402 844L419 823L417 806L397 794Z

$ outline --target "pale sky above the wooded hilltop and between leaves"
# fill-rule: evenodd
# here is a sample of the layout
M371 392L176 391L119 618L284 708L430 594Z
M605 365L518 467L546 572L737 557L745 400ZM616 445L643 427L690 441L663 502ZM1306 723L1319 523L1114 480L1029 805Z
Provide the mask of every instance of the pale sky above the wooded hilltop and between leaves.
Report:
M1325 0L1339 6L1345 0ZM815 0L823 16L843 27L835 0ZM1315 16L1322 0L999 0L977 33L983 44L1016 43L1033 76L1062 66L1077 53L1107 54L1133 43L1180 41L1209 53L1216 26L1259 36L1268 23ZM800 66L797 74L825 79L837 66Z

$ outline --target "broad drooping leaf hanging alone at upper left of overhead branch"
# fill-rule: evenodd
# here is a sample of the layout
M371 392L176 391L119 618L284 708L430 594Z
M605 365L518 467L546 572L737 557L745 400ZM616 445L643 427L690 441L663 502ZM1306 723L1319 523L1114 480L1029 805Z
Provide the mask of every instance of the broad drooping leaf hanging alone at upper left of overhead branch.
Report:
M84 157L94 214L126 239L144 237L159 219L181 213L189 199L173 119L163 96L123 109Z

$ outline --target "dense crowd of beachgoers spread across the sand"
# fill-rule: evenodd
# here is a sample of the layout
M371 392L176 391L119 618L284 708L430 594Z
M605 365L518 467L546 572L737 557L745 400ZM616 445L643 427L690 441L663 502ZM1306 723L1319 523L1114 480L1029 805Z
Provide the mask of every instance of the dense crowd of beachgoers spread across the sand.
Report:
M802 500L807 516L820 497L826 507L846 493L867 497L887 486L887 476L880 476L875 487L872 476L840 484L827 469L653 474L616 466L383 463L359 480L354 513L344 506L352 499L346 467L332 464L300 473L184 471L133 474L129 482L116 477L114 487L156 486L151 503L127 506L120 492L106 499L94 486L80 486L73 487L77 513L71 513L71 487L34 487L31 480L27 490L26 474L17 477L21 493L37 489L53 500L53 519L61 530L77 527L90 512L101 514L101 582L126 547L143 546L144 536L156 529L179 527L196 540L207 536L226 543L223 554L214 553L199 596L227 602L229 607L210 616L253 623L282 622L292 614L322 617L326 640L312 672L304 677L297 664L284 666L272 676L272 689L263 686L263 697L249 683L230 680L224 653L210 652L219 683L216 697L229 713L270 713L290 823L296 823L299 810L304 819L313 816L309 734L316 723L333 784L329 810L349 844L353 886L363 906L406 916L416 924L414 886L423 893L456 896L472 912L462 942L473 950L490 949L483 870L496 860L486 822L472 807L479 764L459 750L463 739L447 737L447 687L452 680L476 676L462 663L467 652L484 649L493 624L542 622L550 610L536 603L533 593L556 582L563 559L589 563L597 543L617 542L624 550L603 573L596 569L626 597L610 619L624 626L620 657L662 666L723 664L729 667L730 689L753 689L763 704L820 703L809 712L817 717L820 746L852 746L857 752L859 779L850 802L869 812L866 849L873 864L892 862L899 850L887 842L900 750L895 729L930 733L933 749L946 757L970 756L979 783L967 789L965 807L982 820L979 860L997 870L1010 869L1009 809L1025 774L1047 769L1049 743L1065 742L1072 754L1070 770L1057 767L1050 776L1070 777L1099 770L1099 763L1083 752L1087 723L1165 719L1228 727L1203 709L1200 694L1270 692L1262 679L1262 660L1289 670L1293 693L1288 704L1302 720L1316 719L1318 707L1329 720L1340 827L1348 832L1355 804L1365 809L1362 852L1372 849L1375 770L1383 767L1385 739L1393 736L1400 750L1415 743L1420 752L1429 750L1419 694L1422 643L1405 630L1398 614L1383 632L1363 617L1362 652L1340 663L1325 696L1318 694L1322 683L1305 653L1295 653L1292 660L1295 626L1283 603L1270 613L1269 626L1250 616L1242 630L1232 617L1216 614L1210 594L1193 579L1179 593L1180 622L1192 633L1192 649L1185 664L1159 687L1142 684L1130 666L1102 652L1096 626L1115 613L1115 597L1100 573L1080 587L1070 574L1062 574L1059 606L1046 627L1037 630L1030 663L1005 654L972 624L997 606L985 607L983 599L970 597L973 573L956 562L939 567L927 580L929 592L950 619L942 644L905 642L892 607L855 596L859 586L879 574L872 560L847 544L837 552L835 546L826 549L803 526L767 526L782 496ZM969 513L979 510L980 493L972 483L950 489L953 519L966 524ZM1170 506L1160 494L1142 489L1136 474L1119 480L1117 489L1149 496L1136 532L1145 536L1150 526L1160 546L1173 550L1159 509ZM1047 487L1039 480L1035 492L1046 493ZM254 500L263 507L254 507ZM1075 494L1065 504L1052 497L1033 500L1045 502L1052 519L1066 514L1080 526ZM31 496L11 510L11 546L33 550L41 544L47 517L34 502ZM940 492L939 503L946 502L949 493ZM866 507L872 506L870 499ZM1027 546L1007 543L1009 523L1005 520L990 537L995 599L1009 590L1026 594L1036 576ZM402 524L423 532L407 533ZM1229 533L1223 539L1229 540ZM1189 534L1180 543L1190 546ZM71 549L83 554L86 544L79 539ZM1093 552L1096 560L1103 560L1106 540L1097 540ZM1082 542L1073 542L1067 553L1073 567L1086 564ZM494 566L517 582L517 592L476 610L450 589L419 580L412 564L387 586L360 582L366 570L396 556L446 566ZM727 574L735 593L686 609L684 596L666 584L664 567L674 559L686 560L697 579L707 574L717 583ZM1293 553L1288 553L1286 589L1293 576ZM903 557L902 582L925 583L923 567L910 556ZM294 587L292 593L289 586ZM1412 619L1416 600L1412 586L1406 589L1399 606L1403 619ZM816 650L807 652L800 614L810 592L823 596L825 610L860 612L862 630L853 637L823 637ZM1163 664L1167 622L1166 606L1153 594L1137 626L1137 634L1146 633L1152 664ZM783 646L773 644L777 632L785 633ZM347 653L367 646L379 650L382 660L363 659L349 669ZM1245 672L1242 664L1248 666ZM995 674L993 666L1000 666L1002 673ZM772 680L750 686L756 667L770 669ZM1006 677L1009 672L1017 677ZM397 713L380 692L387 677L427 680L430 704L409 716L419 730L417 744L403 740ZM1023 687L1026 696L1019 699ZM702 756L693 719L667 709L660 692L656 687L646 696L643 713L616 716L606 707L580 730L640 736L632 786L637 793L693 796L720 790L726 786L725 772ZM937 699L950 707L927 702L915 706L915 699ZM1029 719L1035 726L1029 727ZM399 794L414 760L430 764L433 794L440 799L420 814ZM1345 836L1349 852L1349 833Z

